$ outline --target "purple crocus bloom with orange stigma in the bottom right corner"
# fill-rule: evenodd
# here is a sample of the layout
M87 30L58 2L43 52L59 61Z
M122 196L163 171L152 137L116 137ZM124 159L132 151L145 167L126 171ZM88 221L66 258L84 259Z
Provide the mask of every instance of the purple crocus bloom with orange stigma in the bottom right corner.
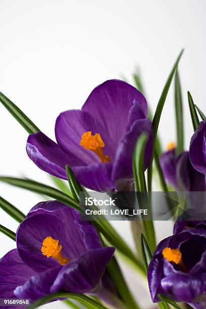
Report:
M206 230L189 228L162 240L148 267L153 302L158 294L193 308L206 307Z

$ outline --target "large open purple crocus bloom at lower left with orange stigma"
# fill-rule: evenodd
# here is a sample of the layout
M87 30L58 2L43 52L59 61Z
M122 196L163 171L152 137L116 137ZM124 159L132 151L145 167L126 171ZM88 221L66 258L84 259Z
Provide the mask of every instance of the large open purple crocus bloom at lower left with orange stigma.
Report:
M115 248L102 247L96 230L58 202L40 202L17 230L17 249L0 261L0 298L31 298L99 289ZM7 308L7 307L6 307Z

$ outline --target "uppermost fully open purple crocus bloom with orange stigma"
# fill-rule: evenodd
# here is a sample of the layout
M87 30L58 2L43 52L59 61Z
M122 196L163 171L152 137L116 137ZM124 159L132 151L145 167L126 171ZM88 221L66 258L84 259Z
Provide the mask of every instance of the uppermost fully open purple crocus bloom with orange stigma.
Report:
M146 99L128 83L108 80L91 92L81 110L60 114L57 143L37 132L28 137L26 149L43 171L67 179L68 164L84 187L109 191L133 180L133 149L143 132L148 134L146 168L153 143Z

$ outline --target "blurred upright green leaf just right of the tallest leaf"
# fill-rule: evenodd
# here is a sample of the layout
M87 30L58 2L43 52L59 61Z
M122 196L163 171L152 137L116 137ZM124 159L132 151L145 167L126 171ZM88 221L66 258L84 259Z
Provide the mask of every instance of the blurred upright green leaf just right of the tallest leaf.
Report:
M175 73L175 114L176 114L176 134L177 134L176 155L178 156L184 150L182 93L181 93L178 70L176 70Z

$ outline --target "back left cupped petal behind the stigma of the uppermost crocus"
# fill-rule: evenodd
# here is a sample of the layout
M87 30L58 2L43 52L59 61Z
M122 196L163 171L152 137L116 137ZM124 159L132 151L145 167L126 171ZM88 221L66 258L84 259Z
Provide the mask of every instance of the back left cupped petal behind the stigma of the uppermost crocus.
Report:
M99 163L100 159L94 152L80 146L83 133L91 131L91 134L99 133L105 143L104 153L112 161L115 155L115 147L111 136L101 123L89 113L80 110L71 110L61 113L56 121L55 134L58 145L69 157L69 165L85 166ZM79 158L80 162L76 162Z

